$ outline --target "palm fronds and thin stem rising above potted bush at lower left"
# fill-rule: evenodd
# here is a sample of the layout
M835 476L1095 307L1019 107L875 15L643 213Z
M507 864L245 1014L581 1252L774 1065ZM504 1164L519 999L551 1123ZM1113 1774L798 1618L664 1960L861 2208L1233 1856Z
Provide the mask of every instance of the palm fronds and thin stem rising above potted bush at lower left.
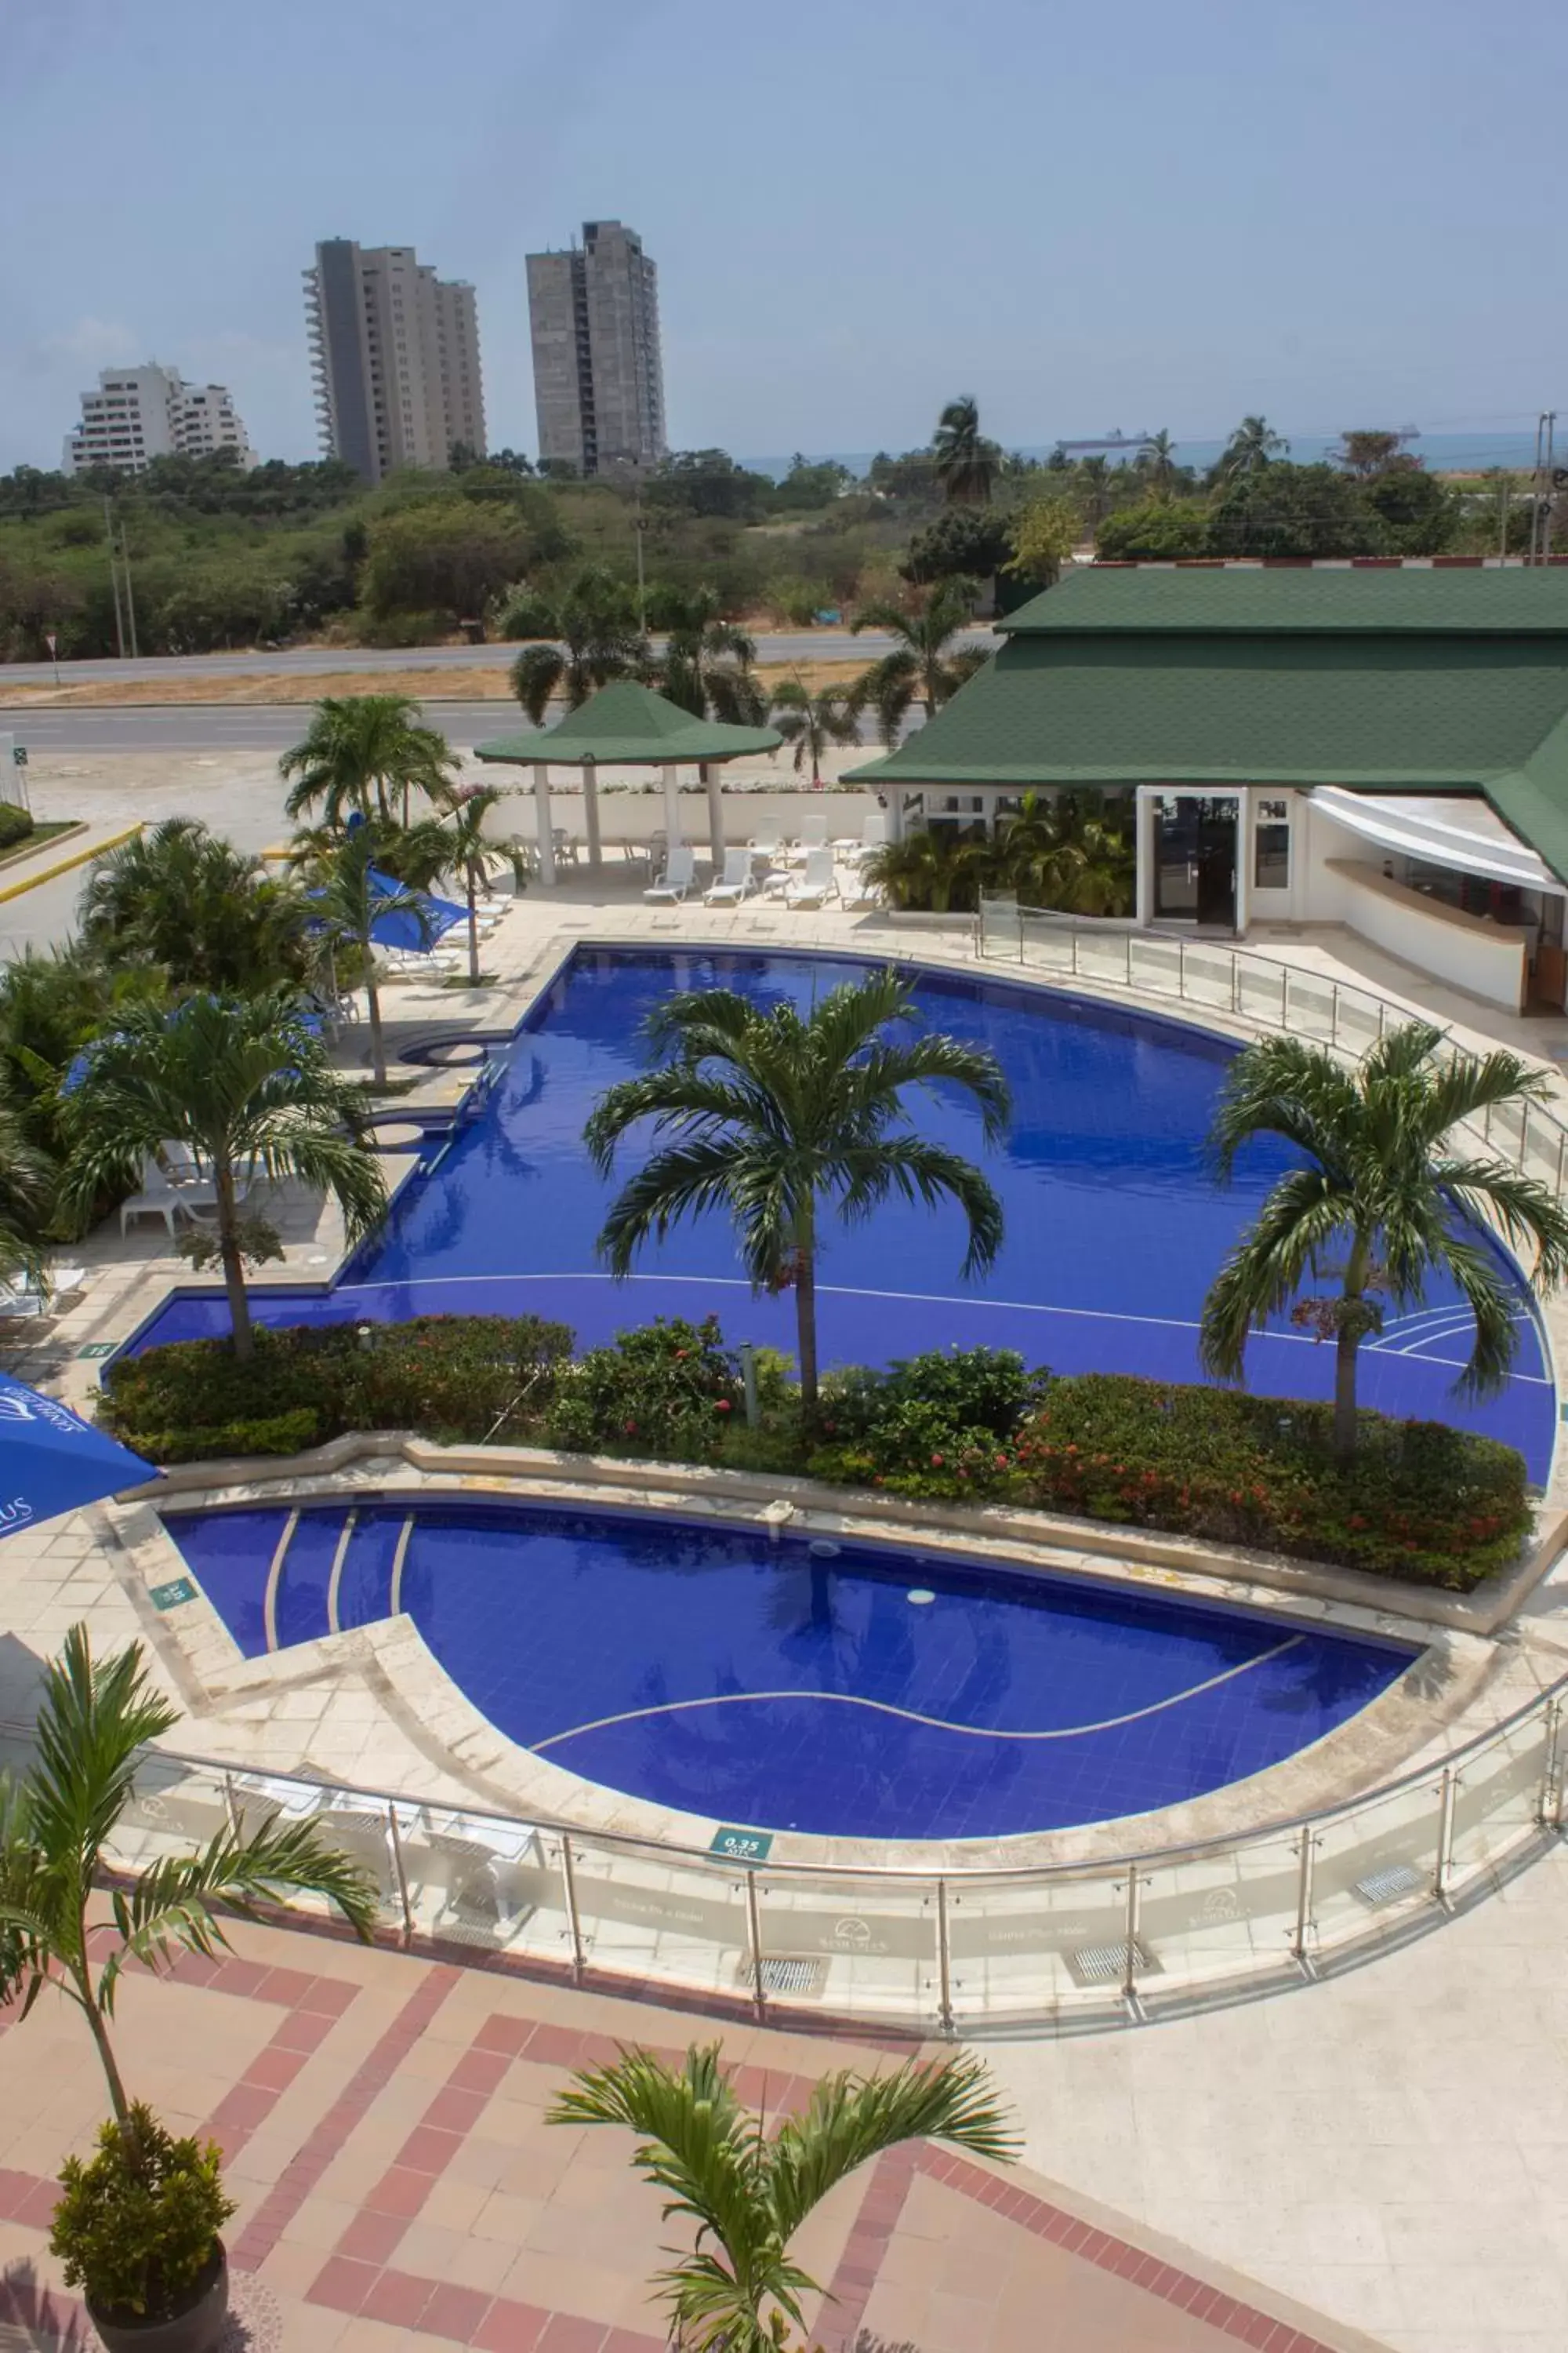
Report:
M108 2021L127 1962L167 1967L179 1953L228 1944L219 1906L249 1913L289 1894L334 1904L369 1944L376 1894L360 1864L310 1821L233 1826L195 1854L165 1854L94 1911L110 1880L115 1828L134 1795L141 1751L179 1722L153 1689L141 1642L94 1659L73 1626L45 1671L21 1779L0 1774L0 2002L21 1995L26 2017L54 1986L87 2019L115 2118L129 2120Z

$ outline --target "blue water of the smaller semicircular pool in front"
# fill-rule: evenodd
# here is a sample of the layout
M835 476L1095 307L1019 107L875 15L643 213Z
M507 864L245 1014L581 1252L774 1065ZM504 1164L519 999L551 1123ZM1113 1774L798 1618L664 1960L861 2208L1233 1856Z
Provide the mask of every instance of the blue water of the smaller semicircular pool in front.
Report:
M1178 1805L1410 1664L1284 1619L651 1513L336 1506L303 1511L282 1560L282 1508L167 1525L247 1657L402 1607L510 1739L766 1831L999 1838Z

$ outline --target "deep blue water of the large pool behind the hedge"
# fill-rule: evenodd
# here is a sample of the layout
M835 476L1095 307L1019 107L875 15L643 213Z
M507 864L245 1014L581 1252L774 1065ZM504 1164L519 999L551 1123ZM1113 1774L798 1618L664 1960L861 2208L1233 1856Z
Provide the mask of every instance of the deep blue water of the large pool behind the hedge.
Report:
M496 1049L494 1085L440 1165L423 1165L386 1226L331 1287L259 1289L263 1322L397 1320L494 1311L569 1322L583 1344L651 1315L715 1311L729 1339L792 1348L790 1299L755 1299L719 1217L649 1249L614 1285L595 1259L611 1188L583 1158L583 1120L616 1078L642 1066L642 1019L672 988L724 986L759 1000L867 969L788 953L578 948L522 1028ZM1058 1372L1197 1379L1204 1292L1269 1181L1284 1146L1246 1151L1218 1191L1204 1132L1232 1045L1178 1021L1020 988L992 976L919 974L931 1026L990 1045L1013 1087L999 1153L954 1096L914 1101L922 1132L985 1162L1006 1209L1006 1245L983 1282L961 1282L959 1212L891 1202L870 1226L825 1224L820 1329L827 1362L886 1362L917 1348L1020 1348ZM428 1155L435 1158L435 1155ZM635 1141L621 1167L637 1162ZM1469 1311L1432 1285L1425 1311L1392 1318L1363 1348L1361 1398L1387 1414L1458 1421L1516 1445L1535 1480L1552 1459L1556 1398L1528 1294L1509 1388L1460 1405ZM216 1289L183 1292L136 1346L228 1329ZM1248 1346L1248 1384L1326 1398L1333 1355L1288 1322Z

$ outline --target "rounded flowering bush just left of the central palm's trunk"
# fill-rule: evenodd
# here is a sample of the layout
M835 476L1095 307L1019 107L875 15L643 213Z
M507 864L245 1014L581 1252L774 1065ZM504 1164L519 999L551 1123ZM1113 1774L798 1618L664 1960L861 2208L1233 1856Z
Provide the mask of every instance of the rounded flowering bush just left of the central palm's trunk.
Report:
M712 1461L743 1414L741 1367L719 1322L658 1315L590 1348L557 1384L550 1445L571 1454L656 1454Z

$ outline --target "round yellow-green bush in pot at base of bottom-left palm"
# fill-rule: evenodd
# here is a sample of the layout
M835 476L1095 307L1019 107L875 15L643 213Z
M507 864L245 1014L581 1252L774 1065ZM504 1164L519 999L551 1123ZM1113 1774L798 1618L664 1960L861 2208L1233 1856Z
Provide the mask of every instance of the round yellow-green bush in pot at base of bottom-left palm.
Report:
M172 2320L186 2311L235 2212L216 2141L176 2141L136 2101L99 2127L99 2153L61 2165L49 2252L66 2287L85 2287L106 2320Z

